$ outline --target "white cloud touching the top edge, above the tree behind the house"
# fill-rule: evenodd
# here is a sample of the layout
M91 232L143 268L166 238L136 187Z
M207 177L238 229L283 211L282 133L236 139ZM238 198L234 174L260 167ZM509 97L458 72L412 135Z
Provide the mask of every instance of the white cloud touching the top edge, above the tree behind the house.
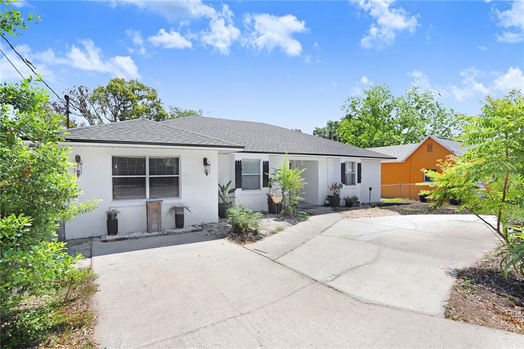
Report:
M414 32L418 26L417 16L411 16L405 9L391 8L394 0L360 0L359 6L375 19L367 34L361 39L364 48L383 49L392 45L398 32Z

